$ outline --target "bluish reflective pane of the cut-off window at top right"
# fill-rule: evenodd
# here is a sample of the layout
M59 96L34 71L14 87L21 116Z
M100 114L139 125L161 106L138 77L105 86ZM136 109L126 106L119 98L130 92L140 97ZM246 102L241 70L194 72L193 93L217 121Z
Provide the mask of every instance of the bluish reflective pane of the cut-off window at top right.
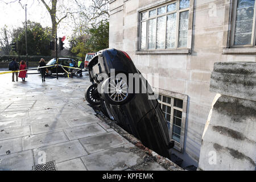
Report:
M234 45L251 44L255 0L238 0Z

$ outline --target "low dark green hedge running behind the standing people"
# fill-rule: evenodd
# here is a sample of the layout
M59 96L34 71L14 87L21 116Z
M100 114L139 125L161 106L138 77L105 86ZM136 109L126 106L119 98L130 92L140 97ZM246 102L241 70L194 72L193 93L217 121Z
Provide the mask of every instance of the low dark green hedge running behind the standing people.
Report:
M15 56L10 56L10 55L4 55L4 56L0 56L0 62L5 63L5 62L10 62L13 58L16 58L16 61L19 61L19 58L17 55ZM19 56L20 60L26 60L26 56ZM74 59L76 61L79 60L79 57L69 57L69 56L65 56L67 58L71 58ZM28 56L28 62L39 62L40 59L43 58L44 60L46 60L46 62L48 62L49 60L53 59L54 57L52 56Z

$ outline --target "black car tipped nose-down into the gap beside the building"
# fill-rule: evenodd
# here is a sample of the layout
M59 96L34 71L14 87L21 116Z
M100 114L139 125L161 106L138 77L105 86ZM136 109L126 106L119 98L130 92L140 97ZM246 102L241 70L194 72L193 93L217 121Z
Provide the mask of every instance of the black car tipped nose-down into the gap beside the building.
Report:
M140 139L144 146L170 159L174 141L170 141L166 119L157 98L149 99L154 95L151 86L129 55L117 49L105 49L93 56L88 68L93 83L85 92L89 104L104 107L107 115ZM129 74L139 76L138 88L134 86L135 78L130 78Z

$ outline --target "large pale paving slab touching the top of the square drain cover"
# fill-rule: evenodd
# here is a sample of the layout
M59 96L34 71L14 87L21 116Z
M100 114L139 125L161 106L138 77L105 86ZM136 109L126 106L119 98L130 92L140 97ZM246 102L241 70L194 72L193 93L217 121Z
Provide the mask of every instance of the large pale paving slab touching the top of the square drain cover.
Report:
M41 157L40 152L45 152L46 162L55 160L56 163L61 163L67 160L79 158L81 156L87 155L88 153L84 150L79 140L73 140L71 142L64 142L55 144L47 147L35 148L34 153L34 162L39 164L39 158Z

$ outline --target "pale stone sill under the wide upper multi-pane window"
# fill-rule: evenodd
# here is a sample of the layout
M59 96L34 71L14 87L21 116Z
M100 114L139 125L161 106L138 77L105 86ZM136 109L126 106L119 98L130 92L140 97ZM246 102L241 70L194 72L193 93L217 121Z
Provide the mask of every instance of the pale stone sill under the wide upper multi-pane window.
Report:
M137 55L190 55L191 49L136 51Z

